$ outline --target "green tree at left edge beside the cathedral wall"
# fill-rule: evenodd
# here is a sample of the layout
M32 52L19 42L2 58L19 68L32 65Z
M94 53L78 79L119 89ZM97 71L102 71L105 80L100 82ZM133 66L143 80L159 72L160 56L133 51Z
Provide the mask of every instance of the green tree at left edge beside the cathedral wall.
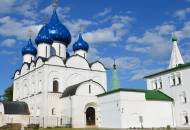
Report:
M3 99L5 101L12 101L13 100L13 85L5 89L3 94Z

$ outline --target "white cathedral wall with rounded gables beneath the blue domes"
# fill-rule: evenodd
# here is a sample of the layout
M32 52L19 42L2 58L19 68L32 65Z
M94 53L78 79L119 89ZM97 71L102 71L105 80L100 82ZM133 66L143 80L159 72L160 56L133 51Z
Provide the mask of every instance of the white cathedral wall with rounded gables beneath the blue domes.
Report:
M74 59L72 59L74 58ZM81 64L82 63L82 64ZM14 77L14 101L24 101L28 104L32 116L48 117L52 115L52 107L55 107L57 115L62 115L64 104L59 99L61 93L70 85L93 79L107 89L106 71L91 70L87 61L82 57L71 57L66 63L61 58L53 56L45 63L38 59L36 66L28 68L22 67L21 73L16 73ZM97 68L98 69L98 68ZM100 69L102 69L100 67ZM53 80L59 82L59 93L53 92ZM103 92L97 87L99 84L92 83L96 93ZM79 89L77 93L83 93L85 89ZM86 91L86 90L85 90ZM84 92L85 93L85 92ZM67 107L67 106L66 106ZM45 122L45 126L48 123Z

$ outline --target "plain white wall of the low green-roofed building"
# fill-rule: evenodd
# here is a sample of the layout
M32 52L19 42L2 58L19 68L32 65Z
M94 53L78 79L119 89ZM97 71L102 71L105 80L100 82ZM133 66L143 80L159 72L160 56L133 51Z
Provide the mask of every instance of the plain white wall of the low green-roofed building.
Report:
M144 92L117 92L98 98L101 111L101 127L140 128L139 116L144 128L173 126L172 103L147 101ZM113 116L110 116L112 113ZM117 120L117 121L116 121Z

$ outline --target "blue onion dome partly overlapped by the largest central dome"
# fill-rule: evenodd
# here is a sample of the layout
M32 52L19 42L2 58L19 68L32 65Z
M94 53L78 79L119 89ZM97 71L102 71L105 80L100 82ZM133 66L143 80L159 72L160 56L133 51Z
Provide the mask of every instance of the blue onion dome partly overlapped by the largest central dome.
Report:
M52 44L53 43L53 39L51 38L49 31L48 31L49 27L47 24L45 24L39 31L38 36L35 39L36 44L40 44L40 43L47 43L47 44Z

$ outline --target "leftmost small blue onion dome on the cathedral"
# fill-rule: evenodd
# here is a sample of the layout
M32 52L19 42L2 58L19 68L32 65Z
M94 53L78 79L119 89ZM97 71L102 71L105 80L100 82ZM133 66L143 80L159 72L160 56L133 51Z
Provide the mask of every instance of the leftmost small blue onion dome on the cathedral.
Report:
M25 55L25 54L31 54L34 56L36 56L37 54L37 50L33 46L31 39L29 39L27 45L22 48L22 55Z

